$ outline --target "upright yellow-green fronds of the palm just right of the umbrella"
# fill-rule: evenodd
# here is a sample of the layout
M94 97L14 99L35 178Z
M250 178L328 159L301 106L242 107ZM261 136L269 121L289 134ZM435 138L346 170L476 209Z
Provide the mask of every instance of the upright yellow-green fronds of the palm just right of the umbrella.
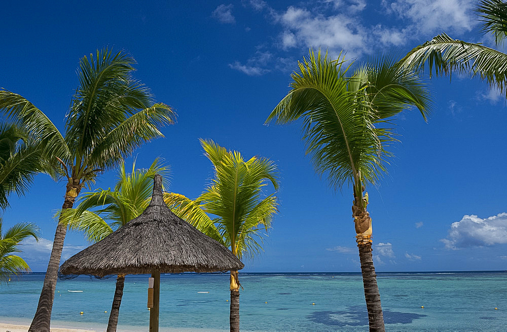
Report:
M259 232L258 225L267 230L277 211L276 197L263 198L262 191L268 183L278 189L277 167L262 157L244 160L239 152L227 151L212 140L201 140L201 145L213 164L214 176L193 204L217 216L212 219L216 232L235 255L251 257L262 251L265 234Z

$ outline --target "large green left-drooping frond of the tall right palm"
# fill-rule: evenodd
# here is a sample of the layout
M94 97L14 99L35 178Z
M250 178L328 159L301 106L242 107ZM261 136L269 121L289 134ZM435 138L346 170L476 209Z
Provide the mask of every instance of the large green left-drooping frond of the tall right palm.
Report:
M364 88L348 91L348 68L343 64L311 51L292 74L291 91L266 120L284 124L303 119L306 153L317 173L328 174L333 188L354 179L358 171L375 181L383 170L377 158L382 146L372 123L372 108L357 103L357 94Z

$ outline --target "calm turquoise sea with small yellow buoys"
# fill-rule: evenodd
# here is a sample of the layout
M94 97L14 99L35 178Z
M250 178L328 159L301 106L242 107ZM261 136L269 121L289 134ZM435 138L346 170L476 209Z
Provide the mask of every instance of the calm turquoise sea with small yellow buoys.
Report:
M388 330L506 329L506 272L379 273L377 278ZM33 273L0 288L0 321L29 322L43 279ZM58 281L52 322L104 330L115 281L84 276ZM368 329L360 274L240 273L240 282L242 330ZM147 330L147 287L148 276L126 277L119 329ZM228 287L228 274L162 275L160 326L228 329Z

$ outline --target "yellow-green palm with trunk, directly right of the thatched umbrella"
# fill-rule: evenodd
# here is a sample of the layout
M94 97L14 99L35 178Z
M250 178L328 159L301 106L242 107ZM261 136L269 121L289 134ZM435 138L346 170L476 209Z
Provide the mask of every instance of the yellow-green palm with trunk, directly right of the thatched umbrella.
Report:
M201 145L214 167L211 184L195 201L167 194L166 203L178 216L230 248L240 260L253 257L263 250L263 231L271 227L277 212L276 196L265 197L262 191L268 183L278 190L277 167L266 158L245 161L239 152L227 151L212 140L201 139ZM240 285L238 271L231 271L231 331L239 331Z

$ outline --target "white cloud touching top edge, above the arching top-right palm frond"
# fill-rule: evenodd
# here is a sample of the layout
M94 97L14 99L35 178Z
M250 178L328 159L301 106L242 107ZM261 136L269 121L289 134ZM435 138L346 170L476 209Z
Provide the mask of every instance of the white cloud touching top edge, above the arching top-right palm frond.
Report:
M475 24L472 0L396 0L383 5L389 13L412 22L414 33L462 33Z

